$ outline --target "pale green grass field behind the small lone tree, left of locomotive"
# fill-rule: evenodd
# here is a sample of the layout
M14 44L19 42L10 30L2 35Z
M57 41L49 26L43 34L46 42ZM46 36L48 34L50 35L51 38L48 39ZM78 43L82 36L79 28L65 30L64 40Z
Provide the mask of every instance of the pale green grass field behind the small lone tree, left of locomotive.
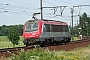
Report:
M19 44L15 45L15 47L24 46L23 37L20 36ZM9 41L7 36L0 36L0 49L2 48L12 48L13 44Z

